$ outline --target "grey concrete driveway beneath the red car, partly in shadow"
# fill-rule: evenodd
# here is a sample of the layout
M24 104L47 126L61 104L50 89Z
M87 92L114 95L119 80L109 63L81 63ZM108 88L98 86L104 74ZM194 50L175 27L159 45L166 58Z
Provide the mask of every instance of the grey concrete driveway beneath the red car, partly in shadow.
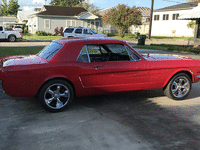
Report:
M0 88L0 149L198 150L199 91L193 84L182 101L162 90L76 98L66 111L49 113L36 98L12 98Z

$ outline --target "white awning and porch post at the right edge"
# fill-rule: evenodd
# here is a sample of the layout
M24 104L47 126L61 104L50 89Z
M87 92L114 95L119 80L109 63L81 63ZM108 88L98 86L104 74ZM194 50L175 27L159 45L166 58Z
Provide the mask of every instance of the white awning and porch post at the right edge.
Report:
M179 19L195 21L194 45L200 45L200 3L193 9L181 13Z

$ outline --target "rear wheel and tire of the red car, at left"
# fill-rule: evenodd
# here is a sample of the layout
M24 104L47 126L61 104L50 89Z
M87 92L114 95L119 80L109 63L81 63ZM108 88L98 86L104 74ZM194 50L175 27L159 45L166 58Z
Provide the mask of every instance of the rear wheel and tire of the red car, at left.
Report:
M47 82L38 93L38 100L42 107L50 112L65 110L74 98L71 85L60 79Z

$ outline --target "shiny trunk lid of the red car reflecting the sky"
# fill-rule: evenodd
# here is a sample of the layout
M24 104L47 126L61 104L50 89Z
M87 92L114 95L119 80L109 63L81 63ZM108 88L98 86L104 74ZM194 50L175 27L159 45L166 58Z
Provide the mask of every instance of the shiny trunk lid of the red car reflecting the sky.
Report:
M36 55L9 56L3 59L3 67L43 63L47 63L47 61Z

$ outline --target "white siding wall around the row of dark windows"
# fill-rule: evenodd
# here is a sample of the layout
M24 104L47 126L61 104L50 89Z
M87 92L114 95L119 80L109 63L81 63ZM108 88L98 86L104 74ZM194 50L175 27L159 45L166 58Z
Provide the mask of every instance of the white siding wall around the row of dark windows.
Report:
M187 27L190 20L172 20L173 14L180 14L187 10L153 12L152 36L185 36L192 37L194 32ZM163 14L169 14L169 20L163 20ZM154 20L154 15L159 15L159 20Z

